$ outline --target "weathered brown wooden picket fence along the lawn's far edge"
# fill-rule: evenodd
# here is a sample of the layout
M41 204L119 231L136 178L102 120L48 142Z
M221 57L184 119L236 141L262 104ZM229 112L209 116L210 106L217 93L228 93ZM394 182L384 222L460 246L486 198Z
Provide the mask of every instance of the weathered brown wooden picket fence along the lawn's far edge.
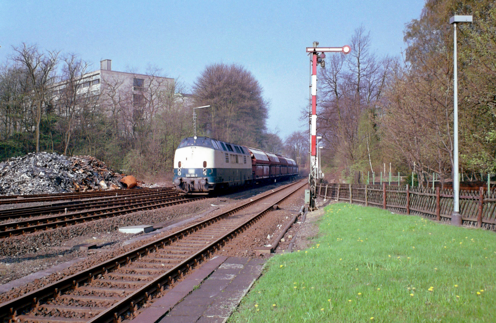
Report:
M450 221L453 212L453 190L439 187L317 184L317 195L437 221ZM482 187L479 191L461 190L459 200L462 224L496 231L496 190L489 194Z

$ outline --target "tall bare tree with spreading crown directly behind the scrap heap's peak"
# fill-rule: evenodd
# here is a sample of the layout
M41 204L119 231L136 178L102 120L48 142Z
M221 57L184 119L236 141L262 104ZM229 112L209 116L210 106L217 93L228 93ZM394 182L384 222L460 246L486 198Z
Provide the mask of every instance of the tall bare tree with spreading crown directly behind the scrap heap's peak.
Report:
M34 113L36 117L36 152L39 152L43 107L46 100L50 99L50 87L54 83L59 52L40 53L36 45L28 46L25 43L22 44L22 47L13 47L13 49L17 54L12 56L12 59L29 81L30 93L36 111Z

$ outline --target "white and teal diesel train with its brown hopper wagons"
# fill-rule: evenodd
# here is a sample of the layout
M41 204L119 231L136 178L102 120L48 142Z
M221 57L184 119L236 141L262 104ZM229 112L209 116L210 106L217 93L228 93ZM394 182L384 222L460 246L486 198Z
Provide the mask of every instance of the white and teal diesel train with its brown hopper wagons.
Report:
M205 194L298 175L294 160L208 137L187 137L174 154L173 185L186 194Z

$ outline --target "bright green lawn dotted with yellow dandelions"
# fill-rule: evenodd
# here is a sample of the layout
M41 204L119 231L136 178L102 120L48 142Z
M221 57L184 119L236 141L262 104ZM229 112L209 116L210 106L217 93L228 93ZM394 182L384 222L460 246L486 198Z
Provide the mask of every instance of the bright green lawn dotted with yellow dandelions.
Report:
M319 230L269 260L230 323L496 322L494 232L346 203Z

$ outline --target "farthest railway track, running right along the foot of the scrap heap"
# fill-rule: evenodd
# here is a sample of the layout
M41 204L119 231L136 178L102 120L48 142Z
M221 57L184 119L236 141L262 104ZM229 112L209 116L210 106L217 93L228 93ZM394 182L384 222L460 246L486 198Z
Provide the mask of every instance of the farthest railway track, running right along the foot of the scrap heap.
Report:
M74 192L74 193L57 193L57 194L1 195L0 204L52 202L52 201L62 201L62 200L74 201L74 200L92 199L98 197L148 194L149 191L172 192L174 191L174 189L172 187L163 187L163 188L143 188L143 189L132 189L132 190Z

